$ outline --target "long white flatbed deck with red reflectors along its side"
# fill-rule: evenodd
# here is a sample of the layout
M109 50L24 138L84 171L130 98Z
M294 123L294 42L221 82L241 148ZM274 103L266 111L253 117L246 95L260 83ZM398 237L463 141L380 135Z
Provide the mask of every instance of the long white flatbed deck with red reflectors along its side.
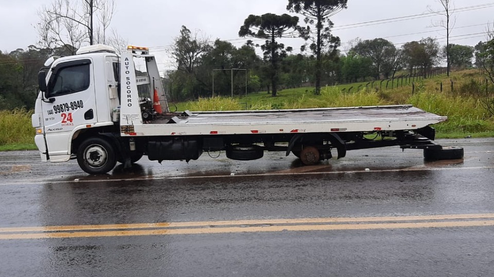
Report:
M193 112L189 116L162 117L135 125L134 135L413 130L446 120L445 116L411 105Z

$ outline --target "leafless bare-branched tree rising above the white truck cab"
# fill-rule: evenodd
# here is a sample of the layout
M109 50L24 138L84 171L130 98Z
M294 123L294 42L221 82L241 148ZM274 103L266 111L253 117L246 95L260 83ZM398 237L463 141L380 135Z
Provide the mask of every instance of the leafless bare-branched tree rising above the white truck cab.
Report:
M54 0L38 11L37 29L42 46L71 46L106 42L106 32L115 11L115 0ZM96 20L95 20L96 17Z

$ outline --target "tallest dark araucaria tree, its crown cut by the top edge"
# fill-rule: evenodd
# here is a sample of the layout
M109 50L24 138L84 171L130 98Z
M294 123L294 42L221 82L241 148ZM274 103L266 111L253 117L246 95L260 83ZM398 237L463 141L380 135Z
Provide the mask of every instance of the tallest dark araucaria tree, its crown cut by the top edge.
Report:
M316 29L315 37L310 26L300 29L303 38L311 39L309 48L316 56L315 94L321 94L323 54L334 52L340 46L340 38L331 34L334 24L329 18L346 9L346 3L347 0L288 0L287 10L304 15L304 22Z

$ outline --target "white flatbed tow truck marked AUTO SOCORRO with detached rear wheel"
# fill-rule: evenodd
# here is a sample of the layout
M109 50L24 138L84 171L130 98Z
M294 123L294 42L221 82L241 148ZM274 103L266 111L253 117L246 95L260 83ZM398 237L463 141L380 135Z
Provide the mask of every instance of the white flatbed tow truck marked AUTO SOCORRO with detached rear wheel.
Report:
M429 160L463 158L463 148L434 143L430 125L447 117L411 105L170 112L156 58L146 47L118 54L93 45L50 57L38 81L31 119L41 160L77 159L90 174L107 173L117 162L130 167L143 155L189 162L207 151L239 161L282 151L305 165L387 146L423 149Z

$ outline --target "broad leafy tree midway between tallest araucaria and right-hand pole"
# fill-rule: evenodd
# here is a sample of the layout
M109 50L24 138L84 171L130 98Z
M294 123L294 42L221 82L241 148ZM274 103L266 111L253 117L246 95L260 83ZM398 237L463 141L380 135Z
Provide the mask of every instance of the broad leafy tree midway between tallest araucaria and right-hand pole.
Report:
M385 78L389 78L395 68L397 60L396 47L384 38L361 41L352 50L372 60L374 65L373 75L376 80L380 79L380 74L383 74Z

